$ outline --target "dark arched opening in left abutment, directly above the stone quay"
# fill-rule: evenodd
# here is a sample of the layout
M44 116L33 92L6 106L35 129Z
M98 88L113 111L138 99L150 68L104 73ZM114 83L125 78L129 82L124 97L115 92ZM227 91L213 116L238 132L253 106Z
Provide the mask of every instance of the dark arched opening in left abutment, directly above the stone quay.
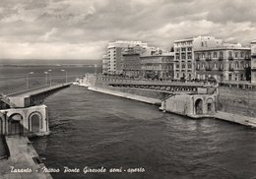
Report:
M23 134L23 126L21 125L21 121L23 120L23 116L21 114L13 114L8 119L8 134L16 135Z

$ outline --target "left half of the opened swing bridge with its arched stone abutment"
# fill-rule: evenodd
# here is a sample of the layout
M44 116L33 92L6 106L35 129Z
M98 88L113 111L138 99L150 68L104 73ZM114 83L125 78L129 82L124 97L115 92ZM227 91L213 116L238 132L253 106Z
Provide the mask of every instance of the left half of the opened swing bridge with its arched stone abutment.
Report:
M0 96L0 135L49 134L47 107L41 103L49 94L70 85L46 86Z

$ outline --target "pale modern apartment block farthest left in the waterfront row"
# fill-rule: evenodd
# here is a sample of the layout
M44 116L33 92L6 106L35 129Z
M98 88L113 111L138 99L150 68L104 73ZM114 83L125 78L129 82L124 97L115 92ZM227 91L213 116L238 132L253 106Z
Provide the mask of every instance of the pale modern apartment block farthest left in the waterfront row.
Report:
M143 43L141 41L122 41L118 40L115 42L111 42L107 46L107 60L103 58L102 61L108 63L104 65L104 72L107 71L107 74L122 74L123 72L123 56L122 53L125 49L129 47L137 47L140 48L141 52L146 49L148 46L147 43ZM107 68L107 69L106 69Z

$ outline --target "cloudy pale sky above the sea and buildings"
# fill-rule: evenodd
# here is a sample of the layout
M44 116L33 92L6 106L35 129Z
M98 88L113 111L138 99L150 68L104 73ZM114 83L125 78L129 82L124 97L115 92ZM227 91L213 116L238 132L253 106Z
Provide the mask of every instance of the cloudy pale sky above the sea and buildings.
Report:
M213 35L249 45L255 0L1 0L0 59L100 59L108 42Z

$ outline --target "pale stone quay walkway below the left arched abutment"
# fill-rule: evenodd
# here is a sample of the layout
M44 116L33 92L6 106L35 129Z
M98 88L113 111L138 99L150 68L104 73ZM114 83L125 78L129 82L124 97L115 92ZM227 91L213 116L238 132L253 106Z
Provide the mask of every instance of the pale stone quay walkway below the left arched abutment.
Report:
M6 142L10 150L10 158L0 161L1 179L51 179L49 173L41 172L43 163L37 163L38 154L33 149L27 137L9 136ZM13 169L12 169L13 168ZM15 169L23 169L27 172L15 172ZM28 172L29 169L32 172Z

